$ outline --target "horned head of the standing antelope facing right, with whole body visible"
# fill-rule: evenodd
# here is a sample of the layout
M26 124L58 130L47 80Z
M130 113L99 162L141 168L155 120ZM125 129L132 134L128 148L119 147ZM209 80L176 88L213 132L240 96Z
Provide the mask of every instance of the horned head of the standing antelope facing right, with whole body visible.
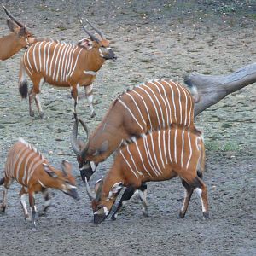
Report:
M115 60L117 57L113 52L113 49L109 46L109 41L106 39L105 35L98 30L95 26L93 26L88 20L86 20L87 24L91 26L93 30L96 31L96 33L99 35L99 38L97 38L93 33L91 33L89 30L87 30L84 26L84 23L82 20L80 20L81 25L84 28L84 32L86 32L90 36L90 40L83 39L80 41L81 45L85 45L87 49L96 48L99 50L100 56L104 60Z

